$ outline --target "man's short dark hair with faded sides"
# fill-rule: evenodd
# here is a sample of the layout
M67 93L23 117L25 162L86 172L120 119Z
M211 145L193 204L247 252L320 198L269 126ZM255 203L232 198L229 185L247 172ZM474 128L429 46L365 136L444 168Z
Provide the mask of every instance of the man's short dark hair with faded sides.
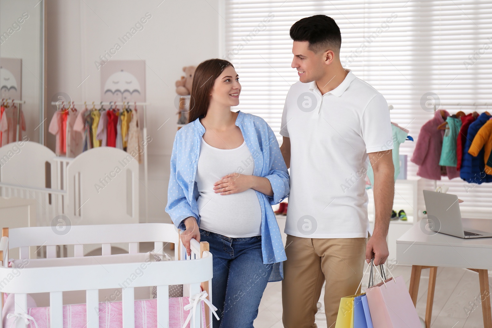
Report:
M308 41L307 49L315 54L333 50L340 51L341 33L337 23L326 15L314 15L303 18L290 28L290 37L294 41Z

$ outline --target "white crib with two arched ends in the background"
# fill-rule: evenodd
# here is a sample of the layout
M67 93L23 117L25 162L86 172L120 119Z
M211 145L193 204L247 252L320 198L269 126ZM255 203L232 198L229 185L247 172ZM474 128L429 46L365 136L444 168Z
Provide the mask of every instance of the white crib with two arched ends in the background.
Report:
M114 147L75 158L31 141L0 148L0 196L34 199L38 226L139 223L139 184L138 161Z

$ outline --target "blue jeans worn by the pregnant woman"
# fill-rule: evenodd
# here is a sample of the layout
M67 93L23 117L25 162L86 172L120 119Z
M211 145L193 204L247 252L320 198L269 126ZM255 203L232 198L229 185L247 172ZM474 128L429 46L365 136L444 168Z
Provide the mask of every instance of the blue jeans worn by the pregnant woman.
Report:
M261 236L230 238L200 229L200 241L208 241L214 259L212 303L220 321L213 328L252 328L272 272L263 264Z

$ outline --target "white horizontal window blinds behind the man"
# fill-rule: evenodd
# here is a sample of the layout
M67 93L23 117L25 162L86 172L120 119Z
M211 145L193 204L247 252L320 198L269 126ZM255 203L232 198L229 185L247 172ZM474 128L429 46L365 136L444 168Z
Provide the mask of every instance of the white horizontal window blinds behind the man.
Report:
M492 103L492 3L490 0L227 0L225 51L242 84L238 109L265 119L280 141L280 118L289 87L299 80L291 68L289 29L301 18L325 14L342 36L344 67L381 92L394 106L391 119L418 137L433 117L421 106L436 101L450 114L487 108L452 106ZM432 93L429 93L432 92ZM429 98L430 97L430 98ZM492 106L489 106L492 112ZM410 159L415 143L400 154ZM417 166L408 161L408 179ZM429 188L433 184L429 181ZM463 216L489 217L492 183L470 184L443 177L459 195ZM398 209L397 209L398 210Z

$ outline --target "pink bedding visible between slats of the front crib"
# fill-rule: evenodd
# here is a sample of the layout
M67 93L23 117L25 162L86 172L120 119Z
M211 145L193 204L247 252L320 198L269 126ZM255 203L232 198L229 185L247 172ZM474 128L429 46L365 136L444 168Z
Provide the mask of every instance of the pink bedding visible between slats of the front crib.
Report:
M13 303L13 294L10 294ZM6 319L8 313L13 313L14 307L9 306L7 298L3 309L3 327L10 327L13 318ZM184 310L184 306L189 303L187 297L169 298L169 328L183 328L184 321L189 311ZM29 306L29 303L28 303ZM205 305L202 306L202 322L205 323ZM198 314L198 309L197 309ZM121 328L122 322L122 302L101 302L99 303L99 327L100 328ZM30 307L28 314L34 318L38 328L50 327L50 308L49 307ZM7 324L5 326L5 324ZM190 324L186 326L189 328ZM206 326L206 325L205 325ZM28 328L36 328L30 321ZM63 305L63 328L84 328L86 327L86 304ZM156 328L157 327L157 299L144 299L135 301L135 328Z

